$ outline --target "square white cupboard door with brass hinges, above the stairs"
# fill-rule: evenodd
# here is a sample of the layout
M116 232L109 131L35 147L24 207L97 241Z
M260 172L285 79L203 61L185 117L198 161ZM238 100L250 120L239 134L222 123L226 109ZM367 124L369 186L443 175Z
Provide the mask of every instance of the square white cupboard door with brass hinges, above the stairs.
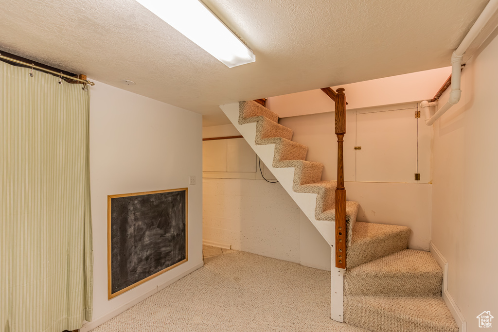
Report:
M357 112L356 181L417 182L416 110Z

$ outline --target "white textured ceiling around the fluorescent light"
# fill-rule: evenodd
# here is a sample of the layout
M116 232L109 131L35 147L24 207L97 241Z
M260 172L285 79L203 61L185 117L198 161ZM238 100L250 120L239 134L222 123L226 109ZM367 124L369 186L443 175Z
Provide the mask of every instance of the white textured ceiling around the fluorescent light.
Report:
M204 2L255 63L227 68L134 0L1 0L0 49L215 125L221 104L448 66L488 0Z

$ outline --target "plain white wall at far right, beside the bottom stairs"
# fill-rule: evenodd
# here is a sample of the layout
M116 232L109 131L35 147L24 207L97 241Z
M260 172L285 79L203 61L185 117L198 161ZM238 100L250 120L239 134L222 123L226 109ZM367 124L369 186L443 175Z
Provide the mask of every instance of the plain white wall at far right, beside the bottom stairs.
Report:
M448 260L448 290L469 332L481 331L483 311L498 326L497 59L495 38L463 70L460 102L434 124L432 240Z

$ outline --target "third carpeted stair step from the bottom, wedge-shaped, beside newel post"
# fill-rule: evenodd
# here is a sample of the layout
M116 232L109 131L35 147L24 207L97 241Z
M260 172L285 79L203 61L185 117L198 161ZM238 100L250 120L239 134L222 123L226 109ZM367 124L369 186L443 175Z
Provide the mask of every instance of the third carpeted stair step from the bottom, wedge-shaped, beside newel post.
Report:
M348 269L406 249L410 231L406 226L357 221L348 245Z

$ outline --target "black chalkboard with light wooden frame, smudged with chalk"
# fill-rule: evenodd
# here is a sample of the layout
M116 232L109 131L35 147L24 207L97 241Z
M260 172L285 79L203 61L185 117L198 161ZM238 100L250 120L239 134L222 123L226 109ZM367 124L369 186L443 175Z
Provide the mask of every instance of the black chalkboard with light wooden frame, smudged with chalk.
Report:
M188 260L188 189L108 196L112 299Z

